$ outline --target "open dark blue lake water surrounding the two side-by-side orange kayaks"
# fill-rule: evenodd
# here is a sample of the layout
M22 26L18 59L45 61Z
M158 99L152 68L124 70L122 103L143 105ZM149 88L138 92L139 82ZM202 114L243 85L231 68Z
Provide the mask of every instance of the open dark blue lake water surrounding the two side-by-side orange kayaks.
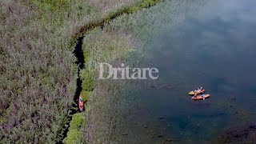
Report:
M152 143L216 142L226 129L255 122L255 6L254 0L211 0L153 36L150 65L159 79L138 93L134 135ZM210 98L192 101L188 92L201 86Z

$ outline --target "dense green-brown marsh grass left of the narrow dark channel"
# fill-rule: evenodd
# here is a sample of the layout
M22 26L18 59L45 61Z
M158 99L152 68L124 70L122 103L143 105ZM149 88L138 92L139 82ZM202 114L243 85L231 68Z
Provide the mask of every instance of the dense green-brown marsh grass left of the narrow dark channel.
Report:
M76 89L70 39L101 18L102 9L83 0L2 0L0 6L0 142L58 142Z

